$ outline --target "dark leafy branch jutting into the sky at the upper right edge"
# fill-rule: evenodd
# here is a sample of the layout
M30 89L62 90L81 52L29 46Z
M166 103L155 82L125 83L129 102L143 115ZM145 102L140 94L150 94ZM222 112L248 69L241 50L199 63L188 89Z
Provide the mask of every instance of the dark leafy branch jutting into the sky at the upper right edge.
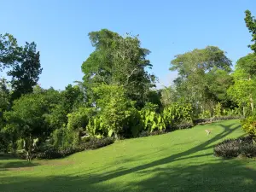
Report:
M252 33L252 42L253 44L248 45L249 48L251 48L254 53L256 53L256 19L252 16L251 12L249 10L245 11L246 17L245 17L245 22L247 25L247 28L249 32Z

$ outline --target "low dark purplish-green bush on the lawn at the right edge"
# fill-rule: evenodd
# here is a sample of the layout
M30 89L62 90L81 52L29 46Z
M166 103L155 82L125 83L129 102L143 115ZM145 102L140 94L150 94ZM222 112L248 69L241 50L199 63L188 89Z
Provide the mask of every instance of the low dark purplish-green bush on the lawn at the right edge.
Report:
M256 157L256 145L253 143L253 137L226 139L215 146L214 154L224 158L237 157L239 155Z

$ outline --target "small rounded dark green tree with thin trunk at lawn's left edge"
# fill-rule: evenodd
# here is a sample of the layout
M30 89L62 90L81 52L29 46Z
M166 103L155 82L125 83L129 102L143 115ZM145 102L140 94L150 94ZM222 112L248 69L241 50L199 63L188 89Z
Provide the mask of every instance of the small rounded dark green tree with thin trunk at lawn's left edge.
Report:
M5 130L12 135L17 133L16 139L25 141L27 160L31 160L33 140L44 140L53 131L46 119L58 100L56 94L57 91L49 89L20 96L12 110L4 114Z

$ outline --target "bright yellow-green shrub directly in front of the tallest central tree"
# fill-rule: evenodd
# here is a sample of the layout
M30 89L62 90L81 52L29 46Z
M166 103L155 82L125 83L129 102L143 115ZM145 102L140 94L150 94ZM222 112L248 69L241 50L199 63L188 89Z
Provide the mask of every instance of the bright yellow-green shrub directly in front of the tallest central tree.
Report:
M102 84L93 88L96 96L96 105L102 117L102 124L108 132L119 139L135 109L135 102L127 97L123 86Z

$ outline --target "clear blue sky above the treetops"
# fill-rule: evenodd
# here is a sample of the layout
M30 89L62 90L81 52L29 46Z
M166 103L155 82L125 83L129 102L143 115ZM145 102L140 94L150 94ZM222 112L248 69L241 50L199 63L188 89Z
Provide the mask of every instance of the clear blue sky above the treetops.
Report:
M35 41L44 68L39 83L64 89L81 80L81 64L93 51L88 32L108 28L139 34L160 84L170 84L174 55L215 45L236 63L250 49L244 11L255 0L0 0L0 33L19 44Z

